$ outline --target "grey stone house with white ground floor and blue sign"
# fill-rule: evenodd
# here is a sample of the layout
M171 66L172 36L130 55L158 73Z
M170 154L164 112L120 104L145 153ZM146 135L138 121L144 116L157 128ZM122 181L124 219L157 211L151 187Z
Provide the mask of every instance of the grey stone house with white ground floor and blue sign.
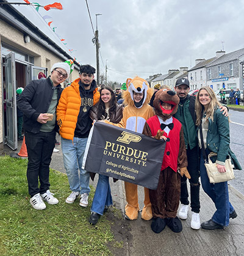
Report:
M213 90L221 88L243 90L242 62L244 48L223 54L206 65L207 86Z

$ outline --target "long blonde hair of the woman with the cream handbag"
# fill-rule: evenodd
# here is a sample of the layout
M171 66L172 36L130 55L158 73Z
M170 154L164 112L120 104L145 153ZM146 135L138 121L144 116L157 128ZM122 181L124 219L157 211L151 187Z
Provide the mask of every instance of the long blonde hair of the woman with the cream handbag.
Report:
M208 122L208 119L210 118L213 121L213 113L215 109L220 105L218 102L215 93L213 92L213 89L210 88L209 86L203 86L199 89L198 94L196 95L196 102L195 102L195 111L196 111L196 125L199 126L201 125L201 119L203 117L203 105L199 101L199 93L201 90L206 90L207 93L209 93L210 97L210 103L209 106L207 107L205 114L206 114L206 122Z

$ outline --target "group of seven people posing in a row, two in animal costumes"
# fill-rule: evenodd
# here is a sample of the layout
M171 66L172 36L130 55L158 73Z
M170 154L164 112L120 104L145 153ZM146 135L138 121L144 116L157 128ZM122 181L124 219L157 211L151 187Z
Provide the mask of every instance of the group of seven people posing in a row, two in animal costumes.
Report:
M61 136L63 163L71 190L65 202L74 203L81 196L79 205L88 206L89 179L94 179L95 174L82 169L82 160L92 123L102 120L166 142L158 187L156 190L144 188L142 219L152 219L154 232L162 232L166 225L173 232L181 232L180 219L187 219L189 203L192 229L223 229L230 218L237 217L229 202L227 182L211 184L204 166L203 150L207 154L217 153L219 172L226 171L224 161L228 156L231 156L235 169L241 169L229 148L228 109L218 103L213 90L204 86L196 97L190 96L188 79L179 78L174 91L158 86L157 92L153 92L147 81L136 77L127 79L122 105L117 103L118 93L109 86L98 91L95 71L90 65L81 65L79 78L62 89L60 84L70 75L70 65L59 62L52 66L51 76L30 82L18 98L18 108L24 114L29 160L27 181L32 207L43 210L45 202L51 205L59 203L49 190L49 164L56 132ZM53 115L52 120L46 113ZM204 145L199 140L199 129L203 130ZM212 218L202 224L199 217L200 176L204 191L217 209ZM190 202L187 179L190 182ZM124 188L127 201L125 218L137 219L137 185L124 182ZM96 224L110 205L109 177L99 174L88 219L90 224Z

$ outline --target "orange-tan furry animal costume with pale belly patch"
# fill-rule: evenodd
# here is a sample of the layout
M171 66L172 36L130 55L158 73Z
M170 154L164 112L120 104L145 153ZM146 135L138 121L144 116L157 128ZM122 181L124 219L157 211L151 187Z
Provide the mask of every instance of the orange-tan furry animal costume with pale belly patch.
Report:
M146 120L154 115L152 107L148 104L152 97L153 90L149 88L149 84L145 79L139 78L138 76L134 79L127 79L126 87L127 90L123 92L124 104L126 105L123 111L123 118L120 123L111 124L131 131L136 131L137 133L142 133ZM143 95L142 100L139 102L136 102L134 96L137 93ZM125 218L129 220L137 219L138 211L140 210L138 205L137 185L124 182L124 188L127 201ZM144 192L145 200L142 210L142 219L148 221L152 218L149 189L144 188Z

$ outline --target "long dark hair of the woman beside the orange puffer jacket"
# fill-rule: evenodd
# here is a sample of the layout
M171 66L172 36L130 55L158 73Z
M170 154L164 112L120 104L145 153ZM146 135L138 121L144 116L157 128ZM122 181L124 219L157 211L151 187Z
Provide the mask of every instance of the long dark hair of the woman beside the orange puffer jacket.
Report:
M104 86L100 90L100 99L98 102L98 120L102 120L103 117L105 117L105 119L107 118L107 112L105 111L105 104L101 100L101 93L102 93L102 90L104 89L109 90L109 92L111 93L111 100L110 100L110 107L109 107L110 119L116 113L117 100L115 97L115 93L113 92L113 89L110 86Z

